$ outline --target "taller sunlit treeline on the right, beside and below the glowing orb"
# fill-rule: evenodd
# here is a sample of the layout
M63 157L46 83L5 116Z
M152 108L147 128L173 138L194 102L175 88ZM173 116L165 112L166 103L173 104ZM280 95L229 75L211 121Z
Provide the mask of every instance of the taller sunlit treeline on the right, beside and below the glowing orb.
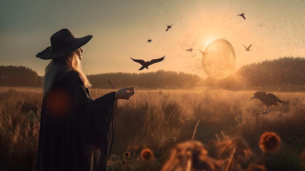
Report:
M244 65L225 79L207 78L205 85L229 90L305 90L305 58L281 57Z

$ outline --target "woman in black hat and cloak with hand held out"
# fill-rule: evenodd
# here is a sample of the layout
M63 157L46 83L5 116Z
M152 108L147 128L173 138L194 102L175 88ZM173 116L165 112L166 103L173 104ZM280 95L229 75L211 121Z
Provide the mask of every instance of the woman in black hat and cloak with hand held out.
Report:
M116 100L129 99L125 87L93 100L80 60L92 36L75 38L68 29L51 37L37 54L52 59L43 78L37 171L107 171L115 131Z

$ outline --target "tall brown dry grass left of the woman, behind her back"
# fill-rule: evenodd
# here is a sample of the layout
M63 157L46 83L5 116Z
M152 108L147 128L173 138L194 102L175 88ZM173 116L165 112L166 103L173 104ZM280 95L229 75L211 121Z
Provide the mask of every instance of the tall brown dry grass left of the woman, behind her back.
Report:
M21 112L24 102L41 109L41 90L0 92L0 170L34 171L38 149L40 110Z

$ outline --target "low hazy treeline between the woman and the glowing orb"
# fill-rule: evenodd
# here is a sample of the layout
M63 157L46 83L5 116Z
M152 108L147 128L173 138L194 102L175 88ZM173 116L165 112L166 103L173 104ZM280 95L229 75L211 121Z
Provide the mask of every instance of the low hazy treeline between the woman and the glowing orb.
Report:
M112 88L107 81L111 81L117 88L136 86L138 88L192 88L202 84L203 79L197 75L183 72L159 70L148 73L107 73L88 76L92 85L96 88Z

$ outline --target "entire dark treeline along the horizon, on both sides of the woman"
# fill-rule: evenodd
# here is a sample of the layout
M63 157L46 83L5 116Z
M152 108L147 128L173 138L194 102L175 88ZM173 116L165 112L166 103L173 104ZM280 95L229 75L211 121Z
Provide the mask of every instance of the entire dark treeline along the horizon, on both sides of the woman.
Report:
M93 88L117 88L136 86L137 88L193 88L209 86L227 90L305 90L305 58L281 57L242 66L236 73L225 79L201 78L183 72L159 70L147 73L106 73L89 75ZM41 86L42 76L22 66L0 66L0 86Z

